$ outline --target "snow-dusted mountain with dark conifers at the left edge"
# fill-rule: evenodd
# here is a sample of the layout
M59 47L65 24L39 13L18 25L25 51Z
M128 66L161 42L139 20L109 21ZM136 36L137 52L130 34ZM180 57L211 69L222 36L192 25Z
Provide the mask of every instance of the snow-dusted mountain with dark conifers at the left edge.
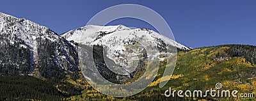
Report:
M77 52L48 27L0 13L0 75L63 78L77 72Z

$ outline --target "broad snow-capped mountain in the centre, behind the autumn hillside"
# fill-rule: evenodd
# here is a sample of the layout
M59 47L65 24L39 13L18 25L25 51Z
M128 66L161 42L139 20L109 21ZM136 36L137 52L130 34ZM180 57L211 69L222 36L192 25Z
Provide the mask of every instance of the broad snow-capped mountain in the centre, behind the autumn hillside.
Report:
M79 45L97 46L95 51L106 56L104 57L105 61L99 59L103 58L102 56L97 56L94 61L96 60L95 63L101 75L114 75L110 77L110 81L113 79L127 80L127 78L132 78L145 69L146 64L143 64L142 61L155 58L163 61L166 57L177 52L177 49L190 49L150 29L130 29L123 25L88 25L68 31L61 36L70 42L79 43ZM88 47L84 49L88 49ZM105 49L106 52L102 49ZM100 50L103 53L100 53ZM110 59L113 62L106 59ZM101 63L97 63L97 61L101 61ZM85 63L85 65L88 64L92 63ZM115 72L115 74L109 73L109 70ZM86 72L86 74L90 73Z

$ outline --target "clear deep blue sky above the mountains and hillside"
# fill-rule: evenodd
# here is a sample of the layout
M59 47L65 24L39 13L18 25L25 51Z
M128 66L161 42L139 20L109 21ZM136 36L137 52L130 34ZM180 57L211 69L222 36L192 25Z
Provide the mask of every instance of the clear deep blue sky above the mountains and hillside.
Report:
M93 15L116 4L141 4L155 10L172 28L175 40L189 47L221 44L256 45L256 1L112 1L112 0L8 0L0 12L26 18L58 34L85 26ZM141 20L119 19L109 25L152 26Z

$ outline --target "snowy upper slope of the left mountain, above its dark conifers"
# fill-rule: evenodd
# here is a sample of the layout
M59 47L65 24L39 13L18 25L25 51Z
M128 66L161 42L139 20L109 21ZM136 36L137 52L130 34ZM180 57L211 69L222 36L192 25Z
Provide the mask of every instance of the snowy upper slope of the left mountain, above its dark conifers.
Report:
M4 13L0 13L0 31L2 34L12 33L12 36L15 35L24 40L31 47L36 47L36 38L38 36L44 36L43 38L51 41L57 41L60 38L60 36L48 27L41 26L27 19L18 19Z

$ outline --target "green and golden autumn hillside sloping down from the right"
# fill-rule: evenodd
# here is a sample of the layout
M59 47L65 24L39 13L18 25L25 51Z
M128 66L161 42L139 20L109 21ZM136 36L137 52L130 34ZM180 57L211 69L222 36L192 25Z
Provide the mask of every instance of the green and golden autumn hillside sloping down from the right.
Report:
M115 98L102 95L93 89L85 89L82 95L70 97L70 100L256 100L253 98L179 98L165 97L164 91L187 89L193 91L201 89L216 89L215 84L220 82L221 89L236 89L240 93L253 93L256 95L256 47L250 45L220 45L216 47L203 47L190 51L177 53L177 65L170 81L163 88L159 88L159 81L165 66L159 68L156 79L141 93L132 97ZM163 61L163 63L166 60Z

